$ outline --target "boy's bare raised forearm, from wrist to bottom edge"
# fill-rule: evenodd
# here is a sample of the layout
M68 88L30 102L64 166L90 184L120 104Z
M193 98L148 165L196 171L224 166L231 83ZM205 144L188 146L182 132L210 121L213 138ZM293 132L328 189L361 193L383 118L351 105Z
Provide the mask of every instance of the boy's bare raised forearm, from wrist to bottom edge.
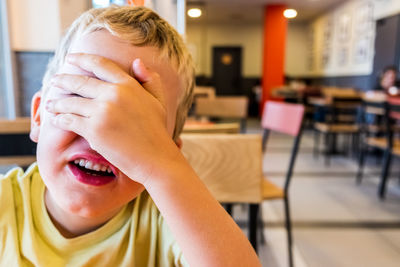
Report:
M146 189L190 266L261 266L249 241L182 155Z

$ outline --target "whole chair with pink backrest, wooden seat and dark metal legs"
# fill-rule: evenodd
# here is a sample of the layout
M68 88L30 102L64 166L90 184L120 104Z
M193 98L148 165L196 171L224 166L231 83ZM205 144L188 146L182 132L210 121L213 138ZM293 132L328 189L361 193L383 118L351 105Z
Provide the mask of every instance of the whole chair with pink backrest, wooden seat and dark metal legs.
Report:
M289 209L289 185L293 174L297 151L300 146L304 111L304 106L300 104L268 101L265 103L261 120L261 126L264 129L264 151L271 131L290 135L295 138L283 188L275 185L266 177L264 178L262 185L263 200L282 199L284 201L289 266L293 266L292 224Z

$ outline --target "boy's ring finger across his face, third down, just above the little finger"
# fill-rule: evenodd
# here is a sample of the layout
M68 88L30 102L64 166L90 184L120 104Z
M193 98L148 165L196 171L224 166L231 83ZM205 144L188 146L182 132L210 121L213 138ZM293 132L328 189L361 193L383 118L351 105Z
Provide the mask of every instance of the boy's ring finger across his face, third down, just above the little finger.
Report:
M95 103L87 98L68 97L64 99L48 100L45 108L51 113L74 114L83 117L90 117L95 110Z

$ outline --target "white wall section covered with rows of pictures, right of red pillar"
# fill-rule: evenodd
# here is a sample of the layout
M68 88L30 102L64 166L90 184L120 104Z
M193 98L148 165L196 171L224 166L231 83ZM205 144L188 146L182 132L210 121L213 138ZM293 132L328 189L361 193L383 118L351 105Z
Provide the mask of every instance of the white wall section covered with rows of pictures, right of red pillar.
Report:
M375 41L373 11L372 0L351 1L310 25L313 35L309 55L311 75L372 73Z

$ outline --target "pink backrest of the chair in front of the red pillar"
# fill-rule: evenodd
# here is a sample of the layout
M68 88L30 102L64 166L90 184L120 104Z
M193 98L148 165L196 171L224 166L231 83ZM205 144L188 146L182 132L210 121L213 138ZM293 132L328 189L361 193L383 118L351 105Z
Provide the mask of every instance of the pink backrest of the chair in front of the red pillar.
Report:
M261 119L263 129L297 136L303 122L304 106L267 101Z

